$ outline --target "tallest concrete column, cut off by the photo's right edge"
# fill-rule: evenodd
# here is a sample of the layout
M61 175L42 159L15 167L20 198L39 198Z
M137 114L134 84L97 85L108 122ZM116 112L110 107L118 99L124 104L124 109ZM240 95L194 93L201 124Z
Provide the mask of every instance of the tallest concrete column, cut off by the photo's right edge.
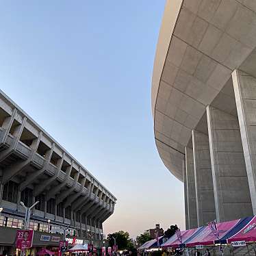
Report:
M248 184L256 214L256 78L241 71L233 71L233 88L244 149Z

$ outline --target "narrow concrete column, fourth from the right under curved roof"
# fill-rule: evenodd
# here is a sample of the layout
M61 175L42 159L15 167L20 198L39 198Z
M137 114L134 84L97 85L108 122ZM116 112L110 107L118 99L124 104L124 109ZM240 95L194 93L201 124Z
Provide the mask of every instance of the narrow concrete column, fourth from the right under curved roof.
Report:
M196 190L194 184L194 159L192 149L185 148L185 170L187 174L188 194L188 226L190 229L197 227L196 216Z

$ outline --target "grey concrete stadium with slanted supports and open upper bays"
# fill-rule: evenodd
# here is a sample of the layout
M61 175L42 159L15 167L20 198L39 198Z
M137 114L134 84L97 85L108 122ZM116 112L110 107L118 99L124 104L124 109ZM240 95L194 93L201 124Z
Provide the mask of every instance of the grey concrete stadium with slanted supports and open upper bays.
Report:
M68 226L70 238L100 246L116 197L1 91L0 177L1 254L1 245L14 246L15 230L23 228L21 201L39 201L30 220L38 246L58 246Z

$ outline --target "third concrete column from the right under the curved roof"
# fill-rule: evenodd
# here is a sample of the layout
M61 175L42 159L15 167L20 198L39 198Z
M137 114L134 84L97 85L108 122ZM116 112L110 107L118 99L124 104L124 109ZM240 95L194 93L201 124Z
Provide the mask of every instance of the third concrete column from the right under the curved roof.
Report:
M196 189L196 209L198 226L216 219L214 204L214 185L207 135L192 131L194 180Z

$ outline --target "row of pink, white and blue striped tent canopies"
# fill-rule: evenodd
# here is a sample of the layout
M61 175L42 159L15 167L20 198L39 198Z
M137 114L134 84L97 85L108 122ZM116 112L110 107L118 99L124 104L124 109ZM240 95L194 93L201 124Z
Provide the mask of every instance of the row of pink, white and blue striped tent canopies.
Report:
M256 242L256 216L240 218L227 222L217 223L218 238L209 227L198 227L181 231L181 239L177 235L172 235L164 242L162 237L162 248L194 247L194 246L214 246L215 244L231 244L232 242L252 243ZM139 249L155 248L156 240L151 240L142 244Z

